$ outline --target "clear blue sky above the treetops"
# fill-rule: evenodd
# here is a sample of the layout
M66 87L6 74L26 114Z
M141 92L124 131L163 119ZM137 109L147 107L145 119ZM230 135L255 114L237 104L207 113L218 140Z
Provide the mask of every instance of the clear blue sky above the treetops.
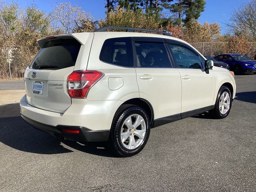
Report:
M237 10L243 4L248 3L250 0L206 0L205 11L201 14L199 22L218 22L222 26L222 33L226 31L225 23L230 19L230 14ZM6 3L17 2L21 8L34 3L40 10L46 12L52 11L53 4L70 2L72 5L78 4L86 12L91 12L92 16L96 19L104 18L105 16L105 2L106 0L5 0Z

